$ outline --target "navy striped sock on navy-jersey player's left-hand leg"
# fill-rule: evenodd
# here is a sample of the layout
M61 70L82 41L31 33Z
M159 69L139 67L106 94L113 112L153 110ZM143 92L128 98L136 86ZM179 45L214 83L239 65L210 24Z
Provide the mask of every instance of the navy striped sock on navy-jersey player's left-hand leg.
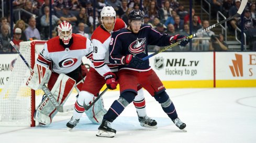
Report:
M121 112L124 111L125 107L127 107L129 103L132 102L135 96L136 94L134 92L122 93L120 97L112 103L103 119L106 119L109 122L113 122L121 114Z

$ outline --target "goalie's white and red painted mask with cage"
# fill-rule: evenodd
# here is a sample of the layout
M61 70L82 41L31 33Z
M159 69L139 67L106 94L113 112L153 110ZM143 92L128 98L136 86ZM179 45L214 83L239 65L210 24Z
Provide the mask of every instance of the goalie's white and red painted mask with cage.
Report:
M72 25L63 21L58 25L58 35L65 45L69 44L72 37Z

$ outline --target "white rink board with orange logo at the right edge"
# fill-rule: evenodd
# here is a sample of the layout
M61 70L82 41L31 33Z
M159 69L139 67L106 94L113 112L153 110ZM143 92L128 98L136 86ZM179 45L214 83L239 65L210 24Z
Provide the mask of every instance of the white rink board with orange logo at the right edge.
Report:
M255 87L256 52L216 53L216 87Z

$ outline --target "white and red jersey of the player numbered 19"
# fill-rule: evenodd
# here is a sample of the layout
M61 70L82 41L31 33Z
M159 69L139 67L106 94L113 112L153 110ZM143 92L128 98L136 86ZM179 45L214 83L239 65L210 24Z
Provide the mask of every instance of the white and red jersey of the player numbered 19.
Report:
M117 18L113 31L126 28L127 25L125 22ZM112 32L110 32L112 33ZM102 76L107 72L115 72L118 69L118 66L115 64L110 64L109 57L109 43L111 40L111 34L106 31L102 25L99 25L92 34L92 43L93 43L93 64L92 67Z

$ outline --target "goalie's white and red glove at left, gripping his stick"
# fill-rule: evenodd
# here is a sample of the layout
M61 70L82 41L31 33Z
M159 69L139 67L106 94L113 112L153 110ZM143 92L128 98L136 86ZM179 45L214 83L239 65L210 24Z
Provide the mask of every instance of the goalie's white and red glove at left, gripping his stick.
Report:
M40 64L35 64L33 71L30 72L26 85L34 90L42 89L43 84L48 83L50 76L51 70Z

